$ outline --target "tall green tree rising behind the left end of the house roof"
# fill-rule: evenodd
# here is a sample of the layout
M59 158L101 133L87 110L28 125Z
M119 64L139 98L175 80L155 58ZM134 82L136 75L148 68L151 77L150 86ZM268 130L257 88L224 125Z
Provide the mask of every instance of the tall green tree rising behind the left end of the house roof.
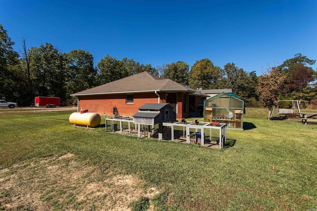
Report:
M66 53L67 93L72 94L96 85L97 69L94 68L94 57L85 50L71 50Z

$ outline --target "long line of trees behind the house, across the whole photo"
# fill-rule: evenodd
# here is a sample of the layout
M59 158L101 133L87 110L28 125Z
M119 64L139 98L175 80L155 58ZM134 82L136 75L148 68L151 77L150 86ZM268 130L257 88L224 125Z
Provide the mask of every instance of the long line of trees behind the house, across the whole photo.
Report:
M302 54L296 54L278 67L268 68L258 77L255 71L248 73L234 63L220 68L208 58L196 61L191 69L183 61L155 68L151 64L140 64L128 58L118 60L107 54L94 67L93 55L85 50L60 52L51 43L27 48L26 40L22 39L23 50L18 53L13 50L13 44L0 25L0 98L24 106L34 103L35 96L60 97L62 105L74 104L76 100L70 96L72 93L143 71L160 74L194 89L232 88L247 106L261 106L260 102L267 106L263 100L263 80L267 80L264 76L269 78L270 70L274 69L283 76L278 86L273 85L278 97L307 102L317 99L317 74L309 67L316 60Z

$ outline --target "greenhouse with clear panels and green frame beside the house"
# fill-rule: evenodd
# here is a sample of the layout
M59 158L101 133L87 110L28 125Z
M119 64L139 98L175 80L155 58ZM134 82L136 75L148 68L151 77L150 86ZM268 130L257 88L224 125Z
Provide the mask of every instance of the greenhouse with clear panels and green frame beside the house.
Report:
M204 122L226 123L228 129L243 130L244 101L222 92L204 101Z

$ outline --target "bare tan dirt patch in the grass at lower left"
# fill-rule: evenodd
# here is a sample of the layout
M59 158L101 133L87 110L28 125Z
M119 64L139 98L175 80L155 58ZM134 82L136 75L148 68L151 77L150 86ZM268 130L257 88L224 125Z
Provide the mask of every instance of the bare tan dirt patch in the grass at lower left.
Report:
M134 175L114 175L67 153L0 170L0 210L130 211L139 197L152 199ZM151 205L150 210L153 210Z

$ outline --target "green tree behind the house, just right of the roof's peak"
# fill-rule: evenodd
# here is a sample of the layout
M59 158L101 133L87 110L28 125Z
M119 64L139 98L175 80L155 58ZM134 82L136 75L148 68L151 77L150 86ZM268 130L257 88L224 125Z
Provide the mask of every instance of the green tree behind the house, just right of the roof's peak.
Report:
M171 64L166 65L163 77L179 84L188 85L188 70L189 65L185 62L172 62Z

